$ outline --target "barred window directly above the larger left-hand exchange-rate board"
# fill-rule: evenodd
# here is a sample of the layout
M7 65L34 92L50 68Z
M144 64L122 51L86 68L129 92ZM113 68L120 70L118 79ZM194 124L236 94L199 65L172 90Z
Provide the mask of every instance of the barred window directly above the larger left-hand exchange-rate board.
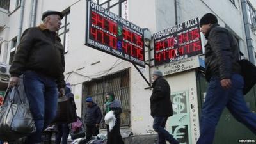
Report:
M110 12L127 19L127 17L125 17L127 16L127 0L93 0L93 3L97 3Z

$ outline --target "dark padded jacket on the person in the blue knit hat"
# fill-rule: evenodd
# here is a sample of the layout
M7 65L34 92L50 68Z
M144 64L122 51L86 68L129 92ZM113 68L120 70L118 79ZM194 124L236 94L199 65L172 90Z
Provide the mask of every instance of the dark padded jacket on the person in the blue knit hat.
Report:
M97 104L93 102L91 108L89 107L86 108L86 114L85 114L86 125L100 124L101 118L102 118L102 113L99 106L97 106Z

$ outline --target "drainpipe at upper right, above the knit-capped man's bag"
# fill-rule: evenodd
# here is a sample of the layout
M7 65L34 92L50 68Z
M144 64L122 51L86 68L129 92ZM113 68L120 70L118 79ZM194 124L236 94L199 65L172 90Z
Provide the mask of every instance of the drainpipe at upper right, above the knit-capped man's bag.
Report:
M247 12L247 1L241 0L242 10L243 10L243 19L244 19L244 29L245 29L245 37L246 37L246 44L247 44L247 51L249 56L249 61L255 63L254 61L254 47L253 47L253 39L251 36L251 24L249 22L249 15Z

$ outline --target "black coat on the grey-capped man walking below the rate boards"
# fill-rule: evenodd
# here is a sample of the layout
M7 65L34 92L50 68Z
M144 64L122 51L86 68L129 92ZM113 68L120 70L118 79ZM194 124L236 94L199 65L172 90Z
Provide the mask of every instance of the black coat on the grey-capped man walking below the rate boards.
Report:
M151 116L172 116L171 90L163 77L158 77L152 84L153 92L150 97Z

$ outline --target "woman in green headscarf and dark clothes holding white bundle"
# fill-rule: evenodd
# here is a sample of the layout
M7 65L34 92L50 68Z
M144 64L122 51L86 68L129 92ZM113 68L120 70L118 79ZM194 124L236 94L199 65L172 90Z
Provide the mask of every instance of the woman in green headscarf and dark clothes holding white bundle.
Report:
M112 92L108 92L106 94L106 103L104 104L104 111L108 113L109 111L113 111L116 117L115 126L111 131L108 129L108 142L107 144L124 144L122 140L122 136L120 134L120 114L122 113L121 102L115 99L115 95Z

